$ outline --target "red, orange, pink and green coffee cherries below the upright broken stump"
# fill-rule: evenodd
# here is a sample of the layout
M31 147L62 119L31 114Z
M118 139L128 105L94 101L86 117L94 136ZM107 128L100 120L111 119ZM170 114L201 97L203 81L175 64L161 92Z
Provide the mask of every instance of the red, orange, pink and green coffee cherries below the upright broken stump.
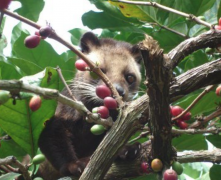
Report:
M163 163L160 159L156 158L151 161L151 165L148 162L141 163L141 171L143 173L149 174L151 172L160 172L163 169ZM167 169L163 173L163 180L177 180L178 175L183 173L183 166L174 161L171 165L171 169Z

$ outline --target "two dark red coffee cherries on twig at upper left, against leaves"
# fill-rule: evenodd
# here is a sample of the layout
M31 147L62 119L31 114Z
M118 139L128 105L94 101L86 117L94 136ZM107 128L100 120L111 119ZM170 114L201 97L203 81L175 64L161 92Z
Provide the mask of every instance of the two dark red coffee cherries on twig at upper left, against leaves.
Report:
M35 32L35 35L29 35L25 38L24 44L27 48L33 49L40 44L41 39L45 39L51 35L53 29L50 25L41 27L39 31Z

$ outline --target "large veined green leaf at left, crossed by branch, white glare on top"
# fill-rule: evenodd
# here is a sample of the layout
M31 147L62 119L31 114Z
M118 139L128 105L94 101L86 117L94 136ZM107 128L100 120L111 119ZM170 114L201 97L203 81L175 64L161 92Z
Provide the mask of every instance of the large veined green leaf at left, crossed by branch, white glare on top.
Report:
M32 85L59 89L59 78L54 69L47 68L35 76L24 77L23 81ZM44 127L44 122L56 109L56 101L42 98L39 110L29 109L29 99L17 100L16 104L9 100L0 106L0 127L32 157L37 152L38 137Z

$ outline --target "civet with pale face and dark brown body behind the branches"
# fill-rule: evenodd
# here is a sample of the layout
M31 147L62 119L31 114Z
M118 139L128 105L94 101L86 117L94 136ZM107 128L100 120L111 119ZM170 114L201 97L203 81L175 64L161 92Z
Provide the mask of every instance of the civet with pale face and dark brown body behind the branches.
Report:
M99 63L122 94L123 100L131 100L141 81L137 47L112 39L99 40L92 33L86 33L82 37L81 47L83 53ZM130 76L135 78L131 84L127 81ZM103 104L95 95L95 88L100 84L103 82L92 79L88 71L79 71L70 88L74 96L92 110ZM69 96L66 89L62 93ZM112 111L111 115L116 119L116 112ZM80 175L103 139L105 134L93 135L90 132L92 125L78 111L63 104L58 105L55 116L47 121L39 138L39 147L61 176ZM45 180L50 179L47 176Z

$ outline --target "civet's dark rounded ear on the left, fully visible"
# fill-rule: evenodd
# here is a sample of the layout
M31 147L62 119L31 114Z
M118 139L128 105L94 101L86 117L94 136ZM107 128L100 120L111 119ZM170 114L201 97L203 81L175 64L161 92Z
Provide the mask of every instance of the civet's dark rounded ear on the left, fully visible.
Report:
M92 47L100 46L100 41L92 32L87 32L81 37L81 50L84 53L89 53Z

